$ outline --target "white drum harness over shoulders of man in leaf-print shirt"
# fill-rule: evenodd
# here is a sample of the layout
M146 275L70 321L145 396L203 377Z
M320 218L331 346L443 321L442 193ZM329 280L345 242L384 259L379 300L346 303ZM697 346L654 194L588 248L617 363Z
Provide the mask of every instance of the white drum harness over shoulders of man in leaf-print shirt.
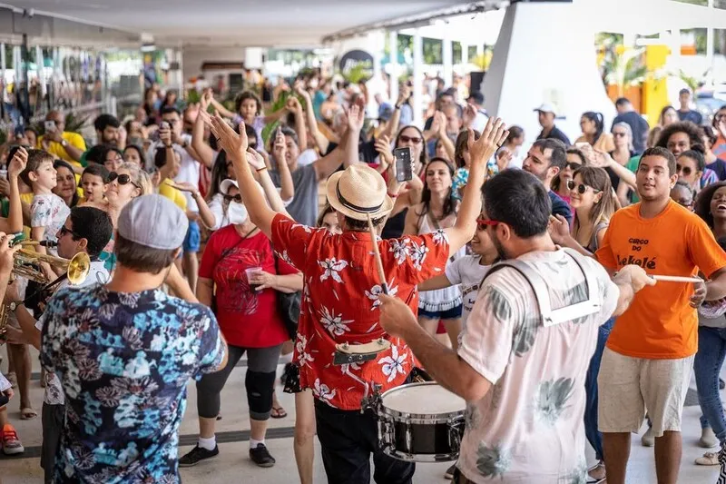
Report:
M570 304L569 306L564 306L556 310L552 309L552 301L550 301L550 294L547 290L547 282L544 281L542 275L540 275L539 272L536 272L529 263L518 259L497 262L491 269L489 269L488 272L486 272L486 276L484 276L480 287L484 286L486 278L494 272L497 272L505 267L515 269L515 271L524 276L526 282L528 282L532 288L532 291L535 292L535 299L537 300L542 317L542 325L545 328L562 322L573 321L577 318L582 318L600 311L602 301L600 301L597 297L597 281L590 272L584 270L583 264L580 261L580 258L584 256L580 255L578 252L574 252L572 249L564 248L562 250L574 260L577 267L581 272L583 272L585 290L587 293L587 299L585 301L575 302L574 304Z

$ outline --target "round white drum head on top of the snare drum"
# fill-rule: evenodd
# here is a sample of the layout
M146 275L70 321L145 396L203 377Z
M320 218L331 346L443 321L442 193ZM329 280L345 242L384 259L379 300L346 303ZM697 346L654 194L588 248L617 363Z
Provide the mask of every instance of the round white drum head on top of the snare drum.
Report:
M383 410L394 417L440 420L462 415L466 401L436 381L411 383L381 396Z

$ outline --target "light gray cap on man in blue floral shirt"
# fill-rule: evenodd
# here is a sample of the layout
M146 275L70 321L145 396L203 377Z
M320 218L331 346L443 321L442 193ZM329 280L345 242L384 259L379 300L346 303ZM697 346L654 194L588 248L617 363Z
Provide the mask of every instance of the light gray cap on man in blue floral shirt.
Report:
M186 213L162 195L142 195L127 203L116 224L124 239L144 247L173 251L189 229Z

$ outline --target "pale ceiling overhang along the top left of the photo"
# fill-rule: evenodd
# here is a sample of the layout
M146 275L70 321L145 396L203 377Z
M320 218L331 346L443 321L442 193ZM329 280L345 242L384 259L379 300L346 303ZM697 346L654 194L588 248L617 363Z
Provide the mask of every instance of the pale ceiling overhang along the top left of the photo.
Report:
M436 11L463 0L5 0L38 14L153 35L159 43L317 45L359 25Z

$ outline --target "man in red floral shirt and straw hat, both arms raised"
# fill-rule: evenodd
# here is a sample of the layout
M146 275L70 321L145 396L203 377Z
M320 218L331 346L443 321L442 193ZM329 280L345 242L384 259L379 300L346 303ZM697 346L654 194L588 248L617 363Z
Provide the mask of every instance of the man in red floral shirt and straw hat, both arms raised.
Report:
M373 383L381 385L381 391L397 387L414 365L406 343L390 337L378 324L378 295L382 289L367 224L370 216L374 226L382 226L400 184L392 177L387 191L380 174L363 163L333 174L328 180L328 200L338 212L343 229L342 234L333 235L325 229L296 223L286 213L273 212L255 187L245 155L246 135L238 136L220 118L212 121L212 132L225 152L231 154L250 220L270 237L280 256L303 273L305 286L295 357L300 386L311 388L316 398L318 438L329 482L368 484L371 453L377 482L411 482L414 464L384 454L378 448L373 412L360 413L361 400L372 391ZM244 133L241 128L240 133ZM454 227L378 240L388 292L407 301L412 311L417 309L417 284L443 273L447 259L474 235L476 217L481 212L480 189L486 161L506 134L500 120L490 120L481 138L470 142L472 167ZM470 134L469 139L474 140L474 136ZM336 344L368 343L378 338L391 345L375 360L333 365Z

